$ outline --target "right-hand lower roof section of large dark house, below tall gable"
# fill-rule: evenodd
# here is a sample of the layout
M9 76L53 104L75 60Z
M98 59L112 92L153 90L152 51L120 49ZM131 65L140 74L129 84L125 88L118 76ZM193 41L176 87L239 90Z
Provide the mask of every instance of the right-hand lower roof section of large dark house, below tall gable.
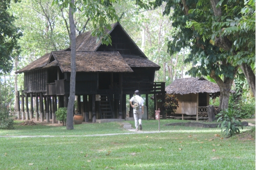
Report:
M159 65L144 57L131 55L122 55L122 57L130 67L156 67L157 70L160 69Z

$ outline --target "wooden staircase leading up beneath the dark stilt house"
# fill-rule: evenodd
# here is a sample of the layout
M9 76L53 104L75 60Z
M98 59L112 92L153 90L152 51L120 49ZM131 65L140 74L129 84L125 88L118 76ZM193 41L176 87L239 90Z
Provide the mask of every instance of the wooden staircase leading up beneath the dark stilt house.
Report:
M114 118L114 113L108 95L100 95L99 112L101 119Z

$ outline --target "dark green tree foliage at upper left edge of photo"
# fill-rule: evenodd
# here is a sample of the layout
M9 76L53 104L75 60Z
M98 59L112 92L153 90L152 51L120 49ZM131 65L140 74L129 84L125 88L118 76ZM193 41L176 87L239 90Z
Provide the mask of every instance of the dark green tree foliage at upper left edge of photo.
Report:
M15 3L18 0L14 0ZM18 57L20 46L18 39L22 36L19 28L14 25L14 16L8 11L11 0L0 2L0 74L10 72L13 68L12 61Z

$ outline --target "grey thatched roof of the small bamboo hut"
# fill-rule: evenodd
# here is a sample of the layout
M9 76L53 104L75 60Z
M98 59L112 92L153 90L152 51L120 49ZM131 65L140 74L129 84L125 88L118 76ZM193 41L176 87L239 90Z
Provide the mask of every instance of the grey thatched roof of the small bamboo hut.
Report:
M217 93L220 88L217 84L207 81L204 78L176 79L165 90L168 94L189 94L189 93Z

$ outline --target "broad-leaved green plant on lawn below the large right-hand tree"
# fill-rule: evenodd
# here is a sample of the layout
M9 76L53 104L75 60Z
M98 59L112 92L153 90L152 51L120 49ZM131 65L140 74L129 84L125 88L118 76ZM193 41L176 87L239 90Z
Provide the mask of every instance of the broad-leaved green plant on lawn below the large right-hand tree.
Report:
M237 119L235 110L233 109L229 108L222 110L219 114L216 115L216 117L219 117L217 122L221 122L221 132L224 134L224 136L228 137L240 133L239 127L243 129L241 120Z

